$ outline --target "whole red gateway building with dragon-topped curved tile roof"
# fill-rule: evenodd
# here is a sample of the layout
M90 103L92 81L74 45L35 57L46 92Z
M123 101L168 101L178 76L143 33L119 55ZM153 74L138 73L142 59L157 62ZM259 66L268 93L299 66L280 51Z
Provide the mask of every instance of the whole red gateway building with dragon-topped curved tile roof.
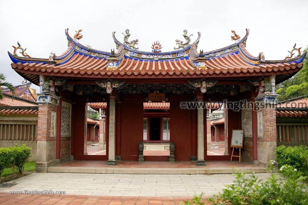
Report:
M275 85L301 69L306 53L301 55L294 46L285 60L266 60L263 53L255 57L245 49L248 30L242 38L232 31L234 44L209 52L198 52L201 34L191 42L186 30L170 52L162 52L157 41L152 52L140 51L138 39L130 41L129 30L124 43L113 32L117 50L109 53L80 44L81 32L72 38L67 29L68 49L47 59L30 57L19 43L13 54L9 52L12 68L40 86L36 171L68 160L106 160L108 165L138 161L142 142L170 143L175 161L202 166L207 160L230 160L234 129L244 130L243 160L266 166L275 158ZM239 101L250 109L237 109L234 102ZM197 109L192 107L196 102L207 103ZM207 120L211 105L204 105L211 102L224 104L221 155L208 154L213 149ZM99 146L106 149L105 155L86 151L90 103L104 123ZM144 160L168 161L169 156Z

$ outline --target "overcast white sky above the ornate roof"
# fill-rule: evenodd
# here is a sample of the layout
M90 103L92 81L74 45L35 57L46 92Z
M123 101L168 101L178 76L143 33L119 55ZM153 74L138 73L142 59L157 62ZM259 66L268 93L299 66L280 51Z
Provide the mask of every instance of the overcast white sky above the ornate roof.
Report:
M115 48L113 31L123 41L121 33L129 29L142 51L152 51L158 40L163 52L172 51L176 39L184 40L184 29L193 34L191 42L199 31L198 51L206 52L233 44L231 30L244 37L248 28L246 49L252 55L264 52L266 60L281 60L294 42L297 48L308 45L307 9L307 0L1 1L0 72L19 85L22 77L11 68L7 51L13 53L19 41L31 57L59 55L67 49L66 28L71 37L82 29L81 44L108 52Z

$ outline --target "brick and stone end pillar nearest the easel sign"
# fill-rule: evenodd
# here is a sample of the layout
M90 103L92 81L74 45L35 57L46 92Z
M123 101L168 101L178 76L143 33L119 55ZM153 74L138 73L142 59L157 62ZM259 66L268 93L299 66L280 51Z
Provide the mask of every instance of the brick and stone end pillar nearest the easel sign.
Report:
M257 102L265 104L265 107L257 110L257 159L261 166L267 166L270 160L275 160L277 146L276 134L276 104L277 96L264 93L256 97Z

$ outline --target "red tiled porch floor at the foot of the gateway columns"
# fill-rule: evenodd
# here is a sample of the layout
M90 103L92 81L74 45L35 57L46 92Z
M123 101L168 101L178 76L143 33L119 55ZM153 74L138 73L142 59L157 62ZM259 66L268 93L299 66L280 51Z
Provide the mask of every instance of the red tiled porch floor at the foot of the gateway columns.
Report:
M246 162L238 161L206 161L207 168L225 168L225 167L257 167ZM96 160L75 160L58 164L57 166L63 167L113 167L107 166L107 161ZM157 161L117 161L116 167L118 168L198 168L196 162L176 161L176 162L157 162Z

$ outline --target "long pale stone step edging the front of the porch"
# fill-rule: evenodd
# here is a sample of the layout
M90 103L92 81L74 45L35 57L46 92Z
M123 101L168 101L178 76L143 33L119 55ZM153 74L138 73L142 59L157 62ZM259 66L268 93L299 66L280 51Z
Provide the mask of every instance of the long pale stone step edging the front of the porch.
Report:
M264 167L219 167L219 168L117 168L117 167L69 167L51 166L47 172L56 173L92 173L92 174L232 174L266 173Z

